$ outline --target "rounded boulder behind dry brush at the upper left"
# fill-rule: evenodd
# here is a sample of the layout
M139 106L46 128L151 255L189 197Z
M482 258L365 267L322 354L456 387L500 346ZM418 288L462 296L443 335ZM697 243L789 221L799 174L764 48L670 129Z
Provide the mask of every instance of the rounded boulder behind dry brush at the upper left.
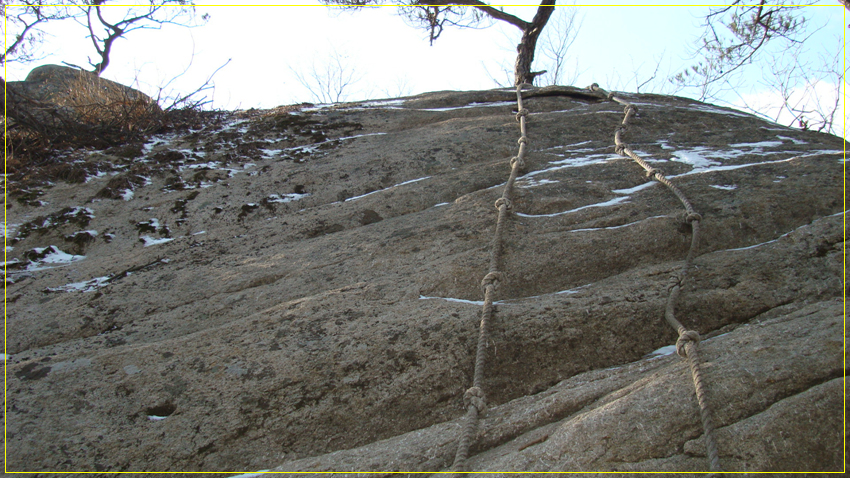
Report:
M159 110L138 90L60 65L39 66L24 81L6 82L5 98L10 118L40 128L116 123Z

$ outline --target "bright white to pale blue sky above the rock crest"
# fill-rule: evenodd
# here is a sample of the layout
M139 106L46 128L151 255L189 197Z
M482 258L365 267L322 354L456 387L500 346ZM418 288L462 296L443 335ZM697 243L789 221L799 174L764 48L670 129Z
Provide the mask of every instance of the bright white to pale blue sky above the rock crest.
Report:
M189 71L166 89L185 92L200 86L216 68L232 59L214 78L214 107L270 108L314 102L291 68L306 72L313 64L321 66L335 50L361 78L349 100L397 96L400 88L406 94L489 89L496 87L491 75L504 78L500 65L512 67L519 40L518 29L495 22L486 29L446 27L429 46L427 32L406 25L392 6L339 12L316 0L255 0L252 5L238 6L220 0L197 3L199 14L210 14L206 25L131 32L116 43L112 64L104 77L155 94L158 87L183 72L191 62ZM583 24L570 50L571 65L577 62L581 72L575 86L597 82L606 89L635 91L639 82L652 75L659 59L660 78L693 64L690 51L702 33L699 25L709 4L695 0L628 2L643 4L631 7L610 6L612 3L627 2L585 0L578 4ZM538 4L539 1L515 1L511 2L514 6L504 8L531 20ZM811 45L809 54L834 56L847 30L844 8L834 0L806 8L812 25L823 26L807 40L807 47ZM68 23L50 30L53 36L48 49L54 55L37 64L66 61L87 66L87 57L94 51L80 28ZM4 77L9 81L22 80L32 66L10 63ZM545 68L538 64L535 67ZM762 101L770 97L759 86L760 75L758 69L750 73L750 90L740 92L744 98ZM641 91L669 93L671 90L663 88L664 84L657 81ZM829 91L829 87L820 86L819 91ZM692 92L677 94L689 96ZM728 101L738 100L730 96ZM839 112L837 116L837 123L841 123L846 114ZM790 121L780 119L786 124ZM838 124L839 134L841 128L843 123Z

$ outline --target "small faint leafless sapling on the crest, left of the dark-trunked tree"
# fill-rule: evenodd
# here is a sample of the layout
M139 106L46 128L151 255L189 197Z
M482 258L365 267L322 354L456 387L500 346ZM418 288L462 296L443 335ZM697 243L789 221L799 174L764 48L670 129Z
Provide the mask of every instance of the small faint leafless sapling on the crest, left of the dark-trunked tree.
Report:
M301 86L310 92L313 100L319 103L339 103L348 101L352 89L361 79L355 67L348 62L348 56L336 49L328 58L317 64L315 59L306 73L289 67Z

